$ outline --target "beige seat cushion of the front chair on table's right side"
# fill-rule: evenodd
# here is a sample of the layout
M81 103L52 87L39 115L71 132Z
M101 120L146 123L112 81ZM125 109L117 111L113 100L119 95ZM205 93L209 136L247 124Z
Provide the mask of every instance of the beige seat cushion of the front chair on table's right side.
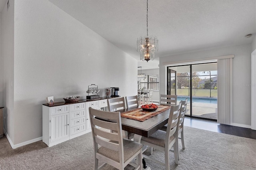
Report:
M157 130L154 134L152 134L149 137L142 136L141 140L152 143L152 144L156 144L158 146L165 147L165 136L166 136L165 131ZM170 136L170 140L172 140L173 138L174 138L173 135Z

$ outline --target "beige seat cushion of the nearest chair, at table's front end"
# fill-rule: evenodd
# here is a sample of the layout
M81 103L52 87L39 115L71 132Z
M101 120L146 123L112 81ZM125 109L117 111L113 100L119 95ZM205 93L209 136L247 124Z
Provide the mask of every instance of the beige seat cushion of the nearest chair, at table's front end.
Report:
M113 142L113 141L111 141ZM116 142L118 143L118 142ZM124 161L128 160L131 156L133 156L138 150L140 150L142 148L142 144L138 143L138 142L134 142L132 140L128 140L123 138L123 144L124 144ZM101 146L98 149L98 153L111 158L117 162L119 161L119 151L114 151L108 148L105 148L103 146Z

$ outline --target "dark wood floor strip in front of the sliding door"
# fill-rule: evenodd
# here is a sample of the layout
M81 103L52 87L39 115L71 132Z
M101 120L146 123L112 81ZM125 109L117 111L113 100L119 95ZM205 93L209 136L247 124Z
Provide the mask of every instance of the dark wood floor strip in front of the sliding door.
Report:
M209 130L213 132L232 134L235 136L241 136L245 138L256 139L256 130L252 130L250 128L223 125L215 121L207 121L203 119L185 117L184 126L200 128L200 129Z

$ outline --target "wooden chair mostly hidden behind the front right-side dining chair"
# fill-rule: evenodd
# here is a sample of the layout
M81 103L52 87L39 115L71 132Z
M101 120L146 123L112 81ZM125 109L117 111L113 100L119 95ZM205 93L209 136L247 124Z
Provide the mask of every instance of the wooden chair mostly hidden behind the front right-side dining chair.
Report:
M184 125L184 117L185 117L185 113L186 113L188 99L186 99L184 101L180 101L180 103L181 103L181 107L180 107L180 116L179 116L179 122L178 122L178 132L177 132L177 137L176 137L177 141L176 142L177 142L177 146L179 147L178 139L180 139L181 143L182 143L182 149L185 149L183 125ZM160 130L166 131L167 126L164 125L162 128L160 128ZM180 135L180 137L179 137L179 135ZM180 160L180 150L179 149L178 149L178 159Z

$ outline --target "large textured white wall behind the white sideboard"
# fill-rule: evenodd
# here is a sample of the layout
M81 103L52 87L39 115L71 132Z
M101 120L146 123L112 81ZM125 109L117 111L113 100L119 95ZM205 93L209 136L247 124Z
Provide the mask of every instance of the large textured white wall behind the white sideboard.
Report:
M14 145L42 136L45 97L83 99L91 84L137 93L136 59L48 0L17 0L14 14Z

